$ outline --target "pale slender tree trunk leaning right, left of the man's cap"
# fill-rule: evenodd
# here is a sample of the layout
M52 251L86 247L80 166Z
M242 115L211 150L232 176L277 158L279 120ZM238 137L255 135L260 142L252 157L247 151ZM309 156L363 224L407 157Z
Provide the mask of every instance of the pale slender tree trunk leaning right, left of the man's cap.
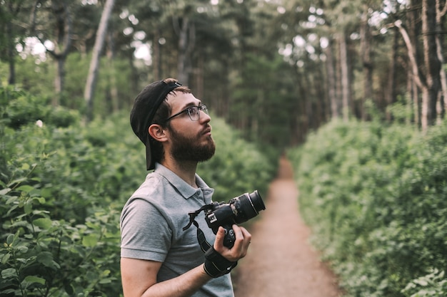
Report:
M93 99L96 87L96 78L99 71L99 56L104 46L104 39L107 33L107 24L109 23L113 7L114 0L107 0L106 4L104 5L104 11L101 15L98 31L96 32L96 40L93 48L93 54L91 56L89 76L87 77L86 88L84 90L84 99L87 103L87 123L93 119Z

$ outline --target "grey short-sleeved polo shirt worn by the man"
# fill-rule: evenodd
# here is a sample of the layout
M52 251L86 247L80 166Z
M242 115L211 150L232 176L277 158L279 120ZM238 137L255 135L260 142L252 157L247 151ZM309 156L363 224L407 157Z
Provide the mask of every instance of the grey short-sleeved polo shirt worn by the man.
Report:
M186 231L189 212L211 203L214 189L196 174L194 189L174 172L156 164L121 212L121 257L163 262L157 281L175 278L204 263L194 225ZM216 236L205 222L204 212L196 217L206 240ZM233 296L229 274L213 278L194 297Z

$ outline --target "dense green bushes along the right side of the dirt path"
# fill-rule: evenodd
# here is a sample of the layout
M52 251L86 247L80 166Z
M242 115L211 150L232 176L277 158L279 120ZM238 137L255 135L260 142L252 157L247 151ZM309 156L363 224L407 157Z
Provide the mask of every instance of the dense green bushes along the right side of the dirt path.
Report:
M334 120L289 152L313 243L347 296L447 294L446 128Z

